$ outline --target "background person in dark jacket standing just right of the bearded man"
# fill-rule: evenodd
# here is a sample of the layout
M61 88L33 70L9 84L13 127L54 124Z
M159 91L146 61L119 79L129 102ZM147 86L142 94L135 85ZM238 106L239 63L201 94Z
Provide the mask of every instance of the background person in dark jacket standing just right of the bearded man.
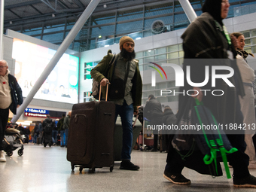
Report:
M157 125L162 125L163 111L162 105L153 95L148 96L148 102L146 102L144 108L144 116L151 120L151 129L154 133L154 148L151 151L157 151L158 148L158 130Z

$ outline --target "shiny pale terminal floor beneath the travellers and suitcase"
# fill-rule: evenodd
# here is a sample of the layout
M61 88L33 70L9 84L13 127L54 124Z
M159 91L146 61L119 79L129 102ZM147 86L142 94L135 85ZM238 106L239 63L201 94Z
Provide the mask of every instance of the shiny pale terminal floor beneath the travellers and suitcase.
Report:
M192 184L171 184L163 178L166 153L133 151L132 162L141 169L120 170L120 162L116 162L113 172L109 168L96 169L95 173L88 172L89 169L79 173L79 168L75 168L72 172L66 148L25 145L22 157L14 151L6 163L0 163L0 191L255 191L233 187L232 179L225 175L212 178L190 169L182 173ZM251 174L256 175L256 170L251 170Z

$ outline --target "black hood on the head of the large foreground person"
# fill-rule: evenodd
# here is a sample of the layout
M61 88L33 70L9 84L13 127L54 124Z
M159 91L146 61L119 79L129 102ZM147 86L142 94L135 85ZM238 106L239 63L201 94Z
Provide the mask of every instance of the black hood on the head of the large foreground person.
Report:
M212 17L218 21L218 23L223 26L222 18L221 18L221 2L222 0L206 0L203 5L202 11L208 12L212 15Z

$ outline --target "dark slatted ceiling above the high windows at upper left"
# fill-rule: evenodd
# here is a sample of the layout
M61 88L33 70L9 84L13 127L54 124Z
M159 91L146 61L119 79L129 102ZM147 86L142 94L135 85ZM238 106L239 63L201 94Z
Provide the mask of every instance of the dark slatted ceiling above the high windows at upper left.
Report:
M136 7L146 3L163 3L157 0L102 0L93 14ZM5 29L20 30L20 25L34 28L43 21L59 23L66 17L79 17L90 0L5 0Z

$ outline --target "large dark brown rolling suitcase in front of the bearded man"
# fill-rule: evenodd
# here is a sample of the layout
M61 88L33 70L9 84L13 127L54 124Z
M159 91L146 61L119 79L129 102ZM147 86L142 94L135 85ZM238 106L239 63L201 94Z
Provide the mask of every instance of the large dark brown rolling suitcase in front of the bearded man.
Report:
M84 102L73 105L70 120L67 160L75 166L95 172L96 168L114 168L114 102Z

